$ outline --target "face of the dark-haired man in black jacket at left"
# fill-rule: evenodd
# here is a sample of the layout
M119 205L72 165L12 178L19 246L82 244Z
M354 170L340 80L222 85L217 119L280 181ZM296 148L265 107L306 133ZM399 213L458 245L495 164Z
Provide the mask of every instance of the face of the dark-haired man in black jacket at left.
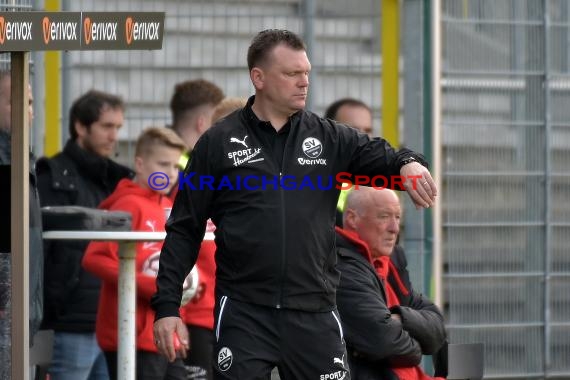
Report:
M119 129L123 126L123 110L120 108L103 107L99 120L91 127L75 123L77 131L77 144L102 157L110 157L115 149Z

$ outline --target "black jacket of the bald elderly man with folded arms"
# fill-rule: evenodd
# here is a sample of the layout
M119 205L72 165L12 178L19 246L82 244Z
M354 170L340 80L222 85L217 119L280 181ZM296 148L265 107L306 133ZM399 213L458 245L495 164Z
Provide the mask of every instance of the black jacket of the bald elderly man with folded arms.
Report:
M361 380L397 379L391 368L412 367L435 354L446 341L439 308L413 290L403 249L390 256L387 281L400 305L388 308L385 284L358 241L337 232L337 291L351 376ZM391 318L399 314L401 322Z

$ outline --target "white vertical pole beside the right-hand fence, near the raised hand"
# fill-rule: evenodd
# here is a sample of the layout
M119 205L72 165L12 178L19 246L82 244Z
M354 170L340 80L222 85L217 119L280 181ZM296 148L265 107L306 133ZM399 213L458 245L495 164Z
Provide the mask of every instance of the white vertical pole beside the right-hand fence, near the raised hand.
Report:
M439 191L438 199L432 210L433 216L433 297L434 302L443 308L442 290L442 168L441 168L441 1L431 2L431 90L432 90L432 156L433 176Z

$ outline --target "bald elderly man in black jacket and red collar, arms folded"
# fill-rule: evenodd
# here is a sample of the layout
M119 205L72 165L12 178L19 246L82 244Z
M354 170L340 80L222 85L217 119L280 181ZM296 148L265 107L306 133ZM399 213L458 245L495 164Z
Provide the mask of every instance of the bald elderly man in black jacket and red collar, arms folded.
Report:
M360 187L337 227L337 305L353 379L431 379L418 365L445 344L443 315L413 290L396 245L400 215L392 190Z

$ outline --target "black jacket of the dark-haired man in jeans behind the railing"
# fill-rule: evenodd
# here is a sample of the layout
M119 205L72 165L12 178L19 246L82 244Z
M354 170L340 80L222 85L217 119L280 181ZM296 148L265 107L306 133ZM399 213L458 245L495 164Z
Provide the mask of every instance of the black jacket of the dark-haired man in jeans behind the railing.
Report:
M63 151L37 164L43 206L96 208L117 183L133 177L129 168L82 149L69 140ZM43 328L94 332L101 281L83 270L88 241L45 240Z

